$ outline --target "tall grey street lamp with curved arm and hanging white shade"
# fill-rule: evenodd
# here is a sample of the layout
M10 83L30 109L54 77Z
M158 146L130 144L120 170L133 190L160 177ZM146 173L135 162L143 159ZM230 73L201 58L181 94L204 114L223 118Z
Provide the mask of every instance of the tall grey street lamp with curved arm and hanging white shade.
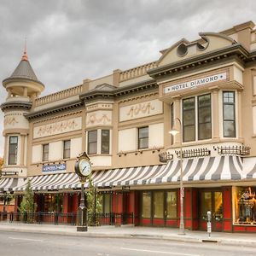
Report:
M184 188L183 188L183 125L182 121L179 118L176 118L180 129L179 131L177 129L172 129L172 131L169 131L173 136L177 135L179 133L180 136L180 150L179 150L179 165L180 165L180 178L179 178L179 194L180 194L180 221L179 221L179 235L185 235L184 231L184 212L183 212L183 197L184 197Z

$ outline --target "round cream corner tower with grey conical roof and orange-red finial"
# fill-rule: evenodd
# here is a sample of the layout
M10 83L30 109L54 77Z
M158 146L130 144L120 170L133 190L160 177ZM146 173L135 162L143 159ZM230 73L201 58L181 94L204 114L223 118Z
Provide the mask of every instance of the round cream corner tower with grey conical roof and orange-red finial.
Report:
M32 102L44 90L28 61L26 47L14 73L3 80L7 90L6 101L0 106L4 113L4 165L3 175L26 177L26 152L29 122L25 117Z

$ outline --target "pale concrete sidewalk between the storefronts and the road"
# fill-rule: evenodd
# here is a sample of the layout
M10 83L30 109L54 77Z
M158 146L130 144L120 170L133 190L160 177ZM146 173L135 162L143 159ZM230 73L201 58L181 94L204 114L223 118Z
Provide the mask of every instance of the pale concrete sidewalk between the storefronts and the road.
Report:
M90 237L118 237L118 238L148 238L166 239L172 241L192 241L192 242L214 242L226 245L242 245L256 247L256 234L237 234L212 232L211 237L206 231L185 230L186 235L178 235L178 229L173 228L151 228L134 227L124 225L121 227L101 226L88 227L87 232L78 232L76 226L49 225L49 224L20 224L20 223L0 223L0 230L20 231L41 234L57 234L68 236L90 236Z

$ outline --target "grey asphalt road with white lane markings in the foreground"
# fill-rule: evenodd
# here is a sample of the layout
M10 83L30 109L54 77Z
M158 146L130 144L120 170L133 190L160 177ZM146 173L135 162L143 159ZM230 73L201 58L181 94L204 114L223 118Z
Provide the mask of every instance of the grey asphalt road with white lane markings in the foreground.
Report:
M21 232L0 233L1 256L230 256L256 255L255 247L136 238L93 238Z

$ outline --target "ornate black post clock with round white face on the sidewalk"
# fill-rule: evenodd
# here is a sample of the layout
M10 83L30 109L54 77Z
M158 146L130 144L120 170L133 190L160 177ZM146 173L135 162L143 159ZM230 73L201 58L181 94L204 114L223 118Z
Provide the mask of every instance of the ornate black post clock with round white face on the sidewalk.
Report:
M78 160L75 162L75 172L78 174L81 183L81 199L78 209L78 226L77 231L87 231L87 207L84 203L84 183L91 172L91 164L89 156L84 152L79 154Z

